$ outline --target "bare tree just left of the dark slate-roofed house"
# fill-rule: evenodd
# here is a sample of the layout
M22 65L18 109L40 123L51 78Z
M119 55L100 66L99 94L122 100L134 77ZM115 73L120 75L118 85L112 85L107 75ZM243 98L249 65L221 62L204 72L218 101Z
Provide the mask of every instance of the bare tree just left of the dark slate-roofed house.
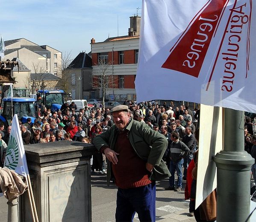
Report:
M70 66L72 59L71 59L71 52L65 52L62 54L62 60L61 60L61 67L60 73L61 73L61 79L59 80L59 86L61 89L63 89L66 93L71 92L72 89L72 67Z

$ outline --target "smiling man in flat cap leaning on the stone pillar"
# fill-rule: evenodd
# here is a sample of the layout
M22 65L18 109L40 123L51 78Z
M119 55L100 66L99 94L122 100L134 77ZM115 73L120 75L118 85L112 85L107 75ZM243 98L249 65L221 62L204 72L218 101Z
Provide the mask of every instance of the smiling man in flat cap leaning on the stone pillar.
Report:
M109 160L107 181L118 186L116 221L156 220L156 180L170 176L162 156L167 139L130 117L128 106L110 110L115 125L93 138L95 147Z

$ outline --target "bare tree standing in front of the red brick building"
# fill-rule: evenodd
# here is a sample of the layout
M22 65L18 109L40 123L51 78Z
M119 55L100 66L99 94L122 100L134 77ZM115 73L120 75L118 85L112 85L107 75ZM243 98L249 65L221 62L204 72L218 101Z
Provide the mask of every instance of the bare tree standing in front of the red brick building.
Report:
M97 75L92 76L92 86L102 90L102 102L105 107L106 92L112 90L115 84L114 73L112 72L112 62L99 59L97 65Z

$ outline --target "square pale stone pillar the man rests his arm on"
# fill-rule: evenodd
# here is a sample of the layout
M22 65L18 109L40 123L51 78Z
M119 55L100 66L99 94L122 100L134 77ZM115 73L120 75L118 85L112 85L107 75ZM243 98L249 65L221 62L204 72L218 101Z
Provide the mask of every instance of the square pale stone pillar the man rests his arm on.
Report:
M91 221L92 144L56 141L24 146L40 222ZM32 221L21 196L20 221Z

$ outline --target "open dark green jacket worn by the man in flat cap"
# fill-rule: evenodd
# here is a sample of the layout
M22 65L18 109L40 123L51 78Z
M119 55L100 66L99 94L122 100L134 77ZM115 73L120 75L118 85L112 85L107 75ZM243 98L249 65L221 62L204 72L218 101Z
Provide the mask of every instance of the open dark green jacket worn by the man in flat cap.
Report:
M162 160L168 141L162 134L152 130L147 124L131 120L126 128L129 130L128 138L137 155L154 166L151 180L164 179L170 177L171 174ZM93 138L92 143L100 150L103 146L109 146L115 150L115 143L118 136L118 128L114 125L111 129ZM112 163L108 164L107 182L112 175Z

